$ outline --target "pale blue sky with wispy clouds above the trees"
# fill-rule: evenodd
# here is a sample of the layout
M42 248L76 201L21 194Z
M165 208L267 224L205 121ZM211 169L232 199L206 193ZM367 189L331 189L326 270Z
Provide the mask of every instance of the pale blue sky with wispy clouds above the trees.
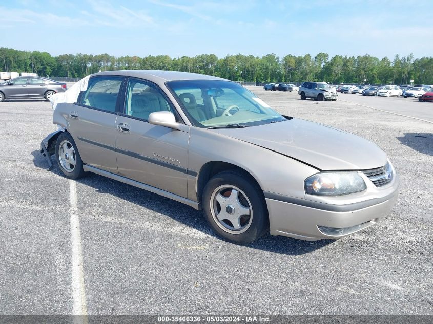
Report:
M0 46L52 55L433 55L428 1L15 0L0 17Z

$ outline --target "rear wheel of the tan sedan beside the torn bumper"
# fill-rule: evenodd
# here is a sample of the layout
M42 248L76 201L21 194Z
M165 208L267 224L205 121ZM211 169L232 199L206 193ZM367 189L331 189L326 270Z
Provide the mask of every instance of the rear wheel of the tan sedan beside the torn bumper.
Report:
M79 179L86 175L83 170L83 160L81 160L71 134L64 132L58 136L55 155L58 167L66 178ZM73 162L75 162L75 165Z

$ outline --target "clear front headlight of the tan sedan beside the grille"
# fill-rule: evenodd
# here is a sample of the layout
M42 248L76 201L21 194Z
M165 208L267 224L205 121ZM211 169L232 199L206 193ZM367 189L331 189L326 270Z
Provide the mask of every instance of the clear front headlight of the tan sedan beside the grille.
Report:
M338 196L367 189L358 172L320 172L305 180L310 195Z

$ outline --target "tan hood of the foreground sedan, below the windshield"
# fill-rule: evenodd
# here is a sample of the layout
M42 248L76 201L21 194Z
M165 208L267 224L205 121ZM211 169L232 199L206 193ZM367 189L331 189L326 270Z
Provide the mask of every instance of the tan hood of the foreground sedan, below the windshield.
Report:
M387 160L383 150L373 142L297 118L214 132L273 150L320 170L372 169L385 165Z

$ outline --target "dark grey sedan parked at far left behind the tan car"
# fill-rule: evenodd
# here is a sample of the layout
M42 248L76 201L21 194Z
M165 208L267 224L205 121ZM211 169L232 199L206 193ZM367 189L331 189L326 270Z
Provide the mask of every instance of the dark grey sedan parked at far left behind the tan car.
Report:
M37 99L66 91L66 83L41 77L19 77L0 84L0 101L5 99Z

